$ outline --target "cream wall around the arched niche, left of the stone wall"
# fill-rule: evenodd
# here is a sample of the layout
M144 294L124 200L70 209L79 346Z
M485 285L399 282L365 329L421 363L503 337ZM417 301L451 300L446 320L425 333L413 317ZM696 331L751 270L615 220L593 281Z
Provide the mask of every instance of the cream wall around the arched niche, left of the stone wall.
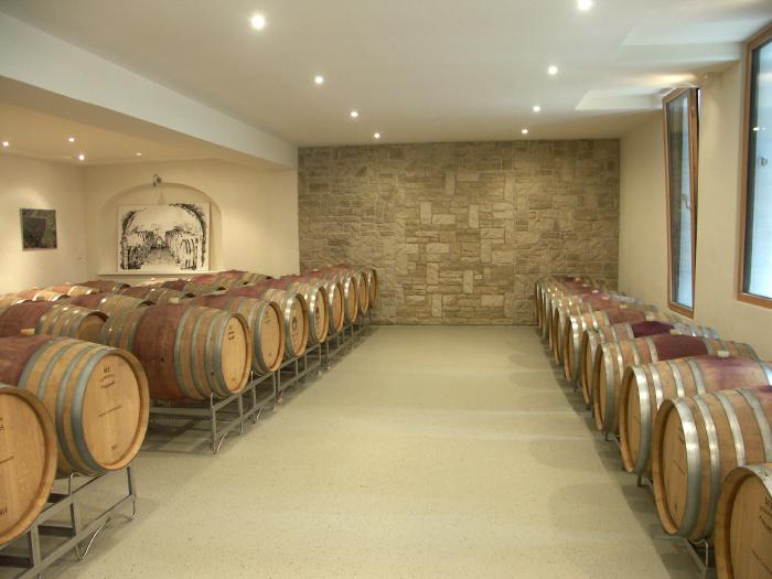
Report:
M161 187L150 186L153 173ZM90 167L85 194L92 277L116 272L118 205L191 201L211 203L211 269L298 270L296 171L260 172L215 160Z

